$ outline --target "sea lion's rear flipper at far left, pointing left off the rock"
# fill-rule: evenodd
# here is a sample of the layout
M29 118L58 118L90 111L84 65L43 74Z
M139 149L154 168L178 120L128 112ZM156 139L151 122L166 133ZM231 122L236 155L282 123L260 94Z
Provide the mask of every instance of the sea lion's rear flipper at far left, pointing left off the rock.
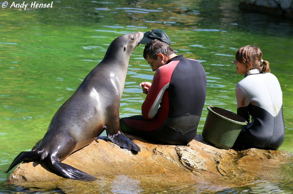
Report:
M40 158L41 153L42 152L37 151L37 150L34 150L34 151L24 151L24 152L19 153L14 158L14 160L11 163L11 165L9 166L9 168L4 173L9 172L13 167L15 167L20 162L23 162L23 161L32 161L32 160L36 160L36 159Z

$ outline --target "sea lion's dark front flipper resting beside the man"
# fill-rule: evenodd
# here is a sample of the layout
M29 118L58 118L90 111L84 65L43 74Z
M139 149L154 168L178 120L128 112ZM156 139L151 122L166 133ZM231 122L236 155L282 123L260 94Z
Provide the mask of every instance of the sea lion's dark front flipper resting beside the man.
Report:
M128 139L128 137L126 137L123 133L115 135L107 134L107 136L117 146L120 146L127 150L134 150L137 152L140 151L140 148L136 144L134 144L130 139Z

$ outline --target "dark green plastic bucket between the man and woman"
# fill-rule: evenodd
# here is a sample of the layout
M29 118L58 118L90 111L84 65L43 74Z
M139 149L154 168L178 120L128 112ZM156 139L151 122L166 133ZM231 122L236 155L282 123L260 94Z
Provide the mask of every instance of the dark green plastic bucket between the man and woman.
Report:
M241 116L215 106L208 106L207 119L202 130L202 137L206 142L218 148L231 148L243 125L247 122Z

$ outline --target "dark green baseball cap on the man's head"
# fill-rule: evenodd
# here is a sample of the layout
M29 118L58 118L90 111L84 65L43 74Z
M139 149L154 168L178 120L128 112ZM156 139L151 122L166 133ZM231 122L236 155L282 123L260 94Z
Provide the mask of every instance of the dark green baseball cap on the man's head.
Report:
M168 35L163 31L159 29L152 29L150 31L147 31L144 33L144 37L142 40L139 42L141 44L147 44L153 41L154 39L158 39L159 41L163 41L167 43L168 45L171 44L171 41L168 37Z

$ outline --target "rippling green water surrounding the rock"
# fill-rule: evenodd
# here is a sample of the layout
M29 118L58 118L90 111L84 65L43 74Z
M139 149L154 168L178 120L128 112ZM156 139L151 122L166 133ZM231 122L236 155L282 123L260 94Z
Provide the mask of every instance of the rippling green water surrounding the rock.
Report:
M293 22L239 10L238 1L54 1L53 8L15 9L0 2L0 172L19 152L30 150L43 137L57 109L105 55L115 37L149 29L163 29L177 54L199 60L207 72L208 105L236 112L235 85L243 78L233 64L235 51L257 43L263 59L280 81L283 92L285 141L280 150L293 153ZM23 3L23 1L14 1ZM30 4L31 1L25 2ZM40 1L51 3L51 1ZM139 83L154 72L134 50L121 101L120 117L137 115L144 101ZM257 83L255 83L257 84ZM205 123L204 108L198 134ZM105 135L103 133L103 135ZM103 183L92 193L293 193L292 164L283 179L259 180L251 186L208 189L169 183L132 186L123 177ZM2 184L0 193L72 193L66 188L22 188ZM110 182L110 183L109 183ZM102 183L100 183L102 184ZM89 186L91 187L91 186ZM97 189L97 190L93 190ZM87 184L76 193L87 193Z

